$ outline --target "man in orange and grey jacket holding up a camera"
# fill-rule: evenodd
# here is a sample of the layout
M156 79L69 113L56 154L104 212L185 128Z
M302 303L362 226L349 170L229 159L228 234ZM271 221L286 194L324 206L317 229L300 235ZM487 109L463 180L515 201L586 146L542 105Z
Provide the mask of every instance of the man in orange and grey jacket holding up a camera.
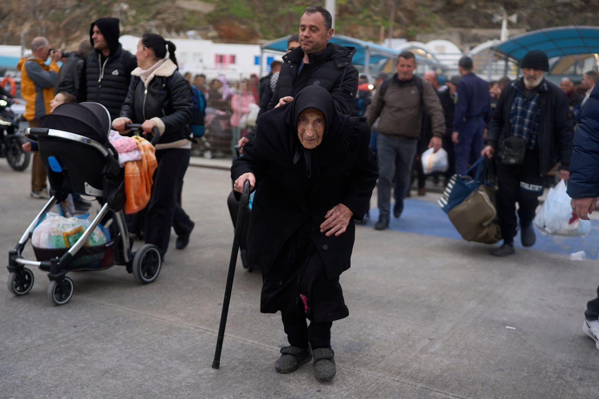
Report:
M52 56L50 65L46 60ZM59 51L50 52L50 43L44 37L37 37L31 42L31 56L19 60L17 69L21 71L21 93L27 101L23 117L29 127L37 127L40 117L50 113L50 100L54 98L54 86L58 77ZM49 198L46 188L46 169L41 163L40 153L34 151L31 165L31 196Z

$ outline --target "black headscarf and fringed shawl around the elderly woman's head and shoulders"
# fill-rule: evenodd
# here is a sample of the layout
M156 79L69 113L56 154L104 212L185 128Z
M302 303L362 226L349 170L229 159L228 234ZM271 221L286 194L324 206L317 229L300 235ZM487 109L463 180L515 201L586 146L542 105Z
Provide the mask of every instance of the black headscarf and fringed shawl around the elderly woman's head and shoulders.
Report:
M307 150L310 152L310 158L317 154L317 160L310 162L310 169L311 165L320 168L343 162L350 148L357 145L358 126L366 118L339 114L331 94L320 86L305 87L291 103L260 115L256 136L246 143L247 150L252 151L251 147L256 145L262 156L270 163L282 167L297 165L305 150L299 142L297 120L299 114L308 108L319 109L325 117L325 133L322 141L314 150ZM298 150L299 157L296 156ZM308 169L308 160L306 163Z

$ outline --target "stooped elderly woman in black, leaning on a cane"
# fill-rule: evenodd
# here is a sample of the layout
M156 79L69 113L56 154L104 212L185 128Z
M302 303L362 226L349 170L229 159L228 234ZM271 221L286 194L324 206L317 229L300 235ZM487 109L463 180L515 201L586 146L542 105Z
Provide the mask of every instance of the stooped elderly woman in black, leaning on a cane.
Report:
M339 276L350 266L352 218L366 213L378 176L369 143L364 118L337 114L331 95L309 86L261 115L231 167L235 191L245 181L256 188L248 255L262 269L261 312L280 310L289 340L279 373L313 354L316 378L335 376L331 325L349 315Z

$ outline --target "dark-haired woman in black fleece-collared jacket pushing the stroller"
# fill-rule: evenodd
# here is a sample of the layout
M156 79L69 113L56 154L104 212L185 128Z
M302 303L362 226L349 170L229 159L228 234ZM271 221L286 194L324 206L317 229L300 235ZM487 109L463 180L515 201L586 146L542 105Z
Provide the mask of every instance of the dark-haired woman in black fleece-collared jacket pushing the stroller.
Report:
M153 176L152 195L145 221L146 243L158 246L161 257L167 252L171 226L177 233L177 248L189 242L194 223L183 211L177 197L189 166L193 100L189 83L177 71L176 47L161 35L146 33L137 44L138 68L131 72L129 92L113 121L113 128L125 131L126 123L141 123L146 133L158 127L158 167ZM180 244L185 245L180 245Z

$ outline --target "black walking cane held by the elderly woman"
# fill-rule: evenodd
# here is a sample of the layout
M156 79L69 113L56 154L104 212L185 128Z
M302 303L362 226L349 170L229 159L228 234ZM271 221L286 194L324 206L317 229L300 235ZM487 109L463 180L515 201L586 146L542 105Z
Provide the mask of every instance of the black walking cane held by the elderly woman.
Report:
M212 368L220 367L220 352L223 349L223 338L225 337L226 316L229 313L229 301L231 300L231 290L233 288L233 277L235 276L235 265L237 264L237 254L239 252L239 240L241 236L241 227L243 227L243 215L247 211L247 205L250 202L250 182L246 180L243 184L243 193L239 202L239 212L237 214L237 223L235 224L235 236L233 237L233 249L231 250L231 260L229 261L229 273L226 276L225 299L223 299L223 310L220 313L219 336L216 340L216 351L214 351L214 360Z

